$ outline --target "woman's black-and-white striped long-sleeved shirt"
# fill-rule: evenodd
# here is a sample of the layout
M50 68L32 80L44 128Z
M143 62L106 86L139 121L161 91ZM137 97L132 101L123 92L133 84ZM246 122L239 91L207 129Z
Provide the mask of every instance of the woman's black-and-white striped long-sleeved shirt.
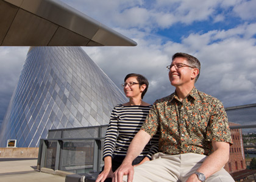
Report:
M110 122L105 135L103 158L106 156L126 156L130 142L138 133L152 105L124 106L116 105L110 116ZM140 156L151 156L158 152L158 135L155 135L146 145Z

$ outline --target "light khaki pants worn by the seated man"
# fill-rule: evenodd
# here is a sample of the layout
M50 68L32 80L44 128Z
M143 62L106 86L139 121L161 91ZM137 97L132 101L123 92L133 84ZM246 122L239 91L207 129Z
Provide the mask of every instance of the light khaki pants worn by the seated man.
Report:
M166 155L156 153L152 161L147 161L134 168L133 182L164 182L164 181L186 181L201 166L207 156L196 153L185 153L180 155ZM124 176L123 181L127 181ZM212 181L234 181L229 173L222 168L206 180Z

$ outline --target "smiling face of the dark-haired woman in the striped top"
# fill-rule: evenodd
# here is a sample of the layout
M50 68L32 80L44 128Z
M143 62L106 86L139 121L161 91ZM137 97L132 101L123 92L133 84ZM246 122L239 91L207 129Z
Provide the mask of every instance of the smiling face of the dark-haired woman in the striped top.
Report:
M137 77L129 77L126 79L125 83L138 83ZM133 97L140 97L141 98L141 93L143 92L142 86L140 84L133 84L129 86L128 84L124 86L124 94L126 94L126 97L133 98Z

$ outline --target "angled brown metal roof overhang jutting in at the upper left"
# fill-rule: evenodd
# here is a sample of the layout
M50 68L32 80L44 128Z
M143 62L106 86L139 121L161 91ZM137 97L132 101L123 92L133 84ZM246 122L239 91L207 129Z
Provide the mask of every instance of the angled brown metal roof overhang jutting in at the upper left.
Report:
M1 46L136 46L59 0L0 0Z

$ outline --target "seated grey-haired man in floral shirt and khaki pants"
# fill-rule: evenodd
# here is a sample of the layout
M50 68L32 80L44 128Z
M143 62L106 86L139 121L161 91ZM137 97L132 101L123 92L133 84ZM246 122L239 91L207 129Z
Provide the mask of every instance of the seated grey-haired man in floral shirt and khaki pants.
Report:
M234 181L223 168L232 145L226 111L218 99L194 87L199 60L176 53L167 68L176 91L155 101L113 181ZM157 131L159 153L133 169L133 159Z

